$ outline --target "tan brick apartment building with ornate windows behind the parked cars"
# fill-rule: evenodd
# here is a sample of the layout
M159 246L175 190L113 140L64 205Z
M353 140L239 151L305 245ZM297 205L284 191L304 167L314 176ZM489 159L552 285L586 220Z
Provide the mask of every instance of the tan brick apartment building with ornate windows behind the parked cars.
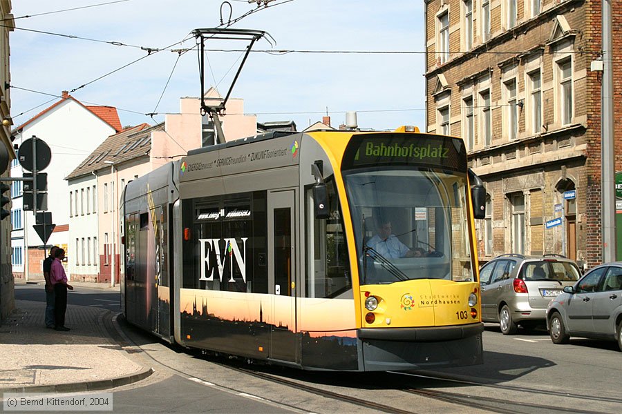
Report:
M601 56L601 8L588 0L425 1L427 131L463 137L486 184L486 219L476 224L482 262L502 253L602 262L603 72L591 70ZM619 97L622 2L612 8ZM616 147L621 140L618 133ZM572 190L576 198L565 199Z

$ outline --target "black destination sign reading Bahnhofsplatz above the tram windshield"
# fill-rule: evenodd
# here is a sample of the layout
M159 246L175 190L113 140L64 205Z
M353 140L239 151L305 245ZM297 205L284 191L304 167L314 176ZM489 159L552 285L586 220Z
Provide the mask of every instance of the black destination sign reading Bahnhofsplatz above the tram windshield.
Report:
M343 168L402 165L433 166L466 170L462 139L442 135L386 134L355 135L346 148Z

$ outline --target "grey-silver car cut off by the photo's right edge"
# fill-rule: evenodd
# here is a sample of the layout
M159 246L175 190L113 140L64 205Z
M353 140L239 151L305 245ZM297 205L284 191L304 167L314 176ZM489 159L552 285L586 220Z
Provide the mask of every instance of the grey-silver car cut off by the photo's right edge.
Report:
M555 344L571 336L616 340L622 351L622 262L601 264L552 300L547 328Z

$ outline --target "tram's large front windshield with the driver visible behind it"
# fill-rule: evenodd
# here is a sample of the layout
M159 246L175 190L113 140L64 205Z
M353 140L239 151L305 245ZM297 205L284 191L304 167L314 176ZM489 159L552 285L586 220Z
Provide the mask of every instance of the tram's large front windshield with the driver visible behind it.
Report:
M472 281L466 175L388 167L344 174L361 284Z

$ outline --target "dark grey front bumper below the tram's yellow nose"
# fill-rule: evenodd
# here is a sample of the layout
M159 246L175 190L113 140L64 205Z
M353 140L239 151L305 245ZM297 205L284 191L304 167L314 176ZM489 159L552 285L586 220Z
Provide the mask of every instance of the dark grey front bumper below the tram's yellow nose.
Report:
M405 371L483 363L484 324L361 328L365 371Z

